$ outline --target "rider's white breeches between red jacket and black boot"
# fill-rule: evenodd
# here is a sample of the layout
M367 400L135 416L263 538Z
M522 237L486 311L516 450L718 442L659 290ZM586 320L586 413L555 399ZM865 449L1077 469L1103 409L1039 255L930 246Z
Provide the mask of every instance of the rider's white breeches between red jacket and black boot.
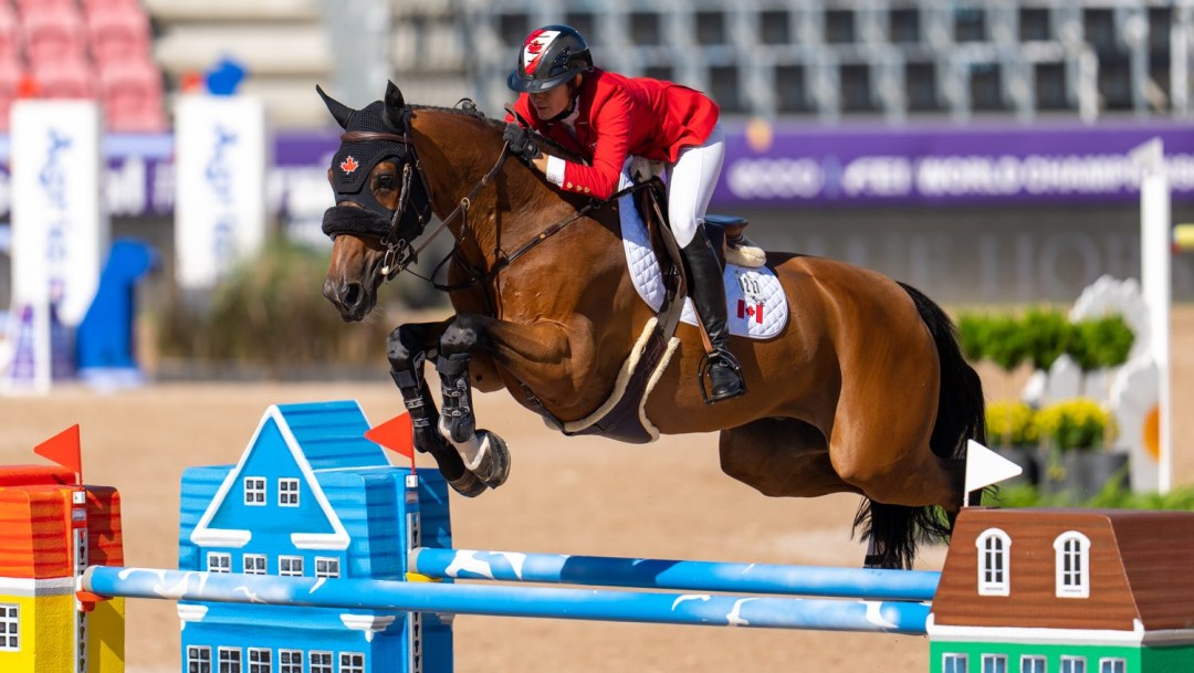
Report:
M685 147L667 166L667 218L681 247L693 242L697 224L704 222L725 159L726 138L716 124L704 144Z

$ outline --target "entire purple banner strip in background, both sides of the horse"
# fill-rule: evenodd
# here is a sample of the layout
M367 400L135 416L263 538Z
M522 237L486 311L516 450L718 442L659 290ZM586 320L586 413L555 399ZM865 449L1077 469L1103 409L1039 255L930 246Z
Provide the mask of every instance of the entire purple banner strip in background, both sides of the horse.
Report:
M1127 153L1159 137L1174 200L1194 200L1194 126L1173 122L1093 126L808 126L726 124L714 208L937 205L1138 198ZM0 136L0 218L8 216L8 142ZM271 212L316 224L331 205L333 130L279 132L266 178ZM174 209L173 138L104 138L104 196L113 216Z

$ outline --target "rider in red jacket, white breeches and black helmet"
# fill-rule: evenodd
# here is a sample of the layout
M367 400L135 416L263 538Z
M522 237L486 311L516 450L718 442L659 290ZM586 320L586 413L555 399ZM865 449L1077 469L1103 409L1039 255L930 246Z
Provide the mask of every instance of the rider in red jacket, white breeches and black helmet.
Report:
M506 117L510 150L564 190L593 198L617 191L629 156L667 167L667 212L689 271L693 303L704 325L709 354L709 401L746 391L730 352L726 289L721 265L704 233L704 212L721 173L725 140L720 110L704 94L669 81L627 78L593 67L589 44L576 29L547 25L533 31L506 82L519 92L515 110L537 131L589 161L540 150L534 136Z

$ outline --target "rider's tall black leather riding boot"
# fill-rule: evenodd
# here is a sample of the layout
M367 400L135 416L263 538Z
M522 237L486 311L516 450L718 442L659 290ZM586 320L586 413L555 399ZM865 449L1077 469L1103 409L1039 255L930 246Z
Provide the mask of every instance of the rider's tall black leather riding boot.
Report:
M681 251L688 266L688 288L696 313L709 335L713 353L698 375L704 393L704 372L709 375L706 402L720 402L746 393L741 368L730 352L730 328L726 326L726 288L721 280L721 264L713 253L704 227L696 228L696 236Z

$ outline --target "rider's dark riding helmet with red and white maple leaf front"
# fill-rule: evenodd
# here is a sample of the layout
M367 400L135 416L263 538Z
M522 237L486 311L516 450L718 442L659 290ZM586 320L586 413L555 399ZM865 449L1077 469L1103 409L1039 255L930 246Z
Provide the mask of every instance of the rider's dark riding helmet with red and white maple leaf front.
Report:
M518 50L518 67L506 85L513 91L541 93L593 67L584 37L572 26L552 24L533 31Z

